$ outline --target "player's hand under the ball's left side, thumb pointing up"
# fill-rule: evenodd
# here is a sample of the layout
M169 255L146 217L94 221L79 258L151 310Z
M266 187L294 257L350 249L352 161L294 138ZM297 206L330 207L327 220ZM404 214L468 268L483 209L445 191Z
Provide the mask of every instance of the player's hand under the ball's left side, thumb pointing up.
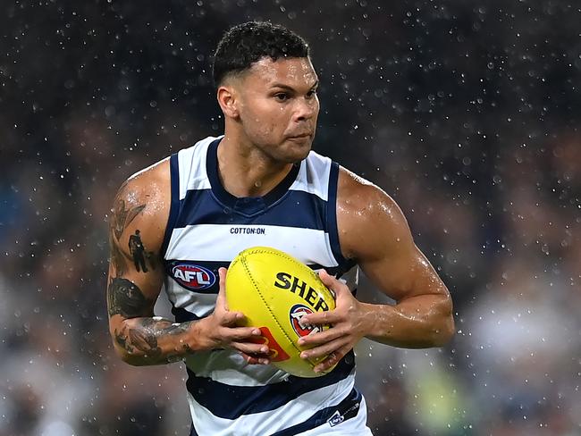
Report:
M240 327L244 314L228 310L226 304L226 268L220 268L220 290L215 302L214 313L198 322L203 342L202 348L233 348L250 365L268 365L269 349L261 343L261 333L256 327ZM258 343L257 343L258 342Z

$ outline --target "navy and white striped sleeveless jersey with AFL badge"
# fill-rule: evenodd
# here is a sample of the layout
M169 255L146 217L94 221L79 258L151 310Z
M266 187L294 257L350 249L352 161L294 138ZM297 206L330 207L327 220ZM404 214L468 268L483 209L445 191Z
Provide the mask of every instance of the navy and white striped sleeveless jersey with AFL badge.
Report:
M218 176L220 139L203 139L170 158L172 202L162 253L175 320L211 314L218 268L248 247L281 249L354 290L357 266L341 256L337 232L338 164L311 152L264 197L233 197ZM231 349L198 352L186 366L191 434L322 434L316 429L341 432L356 421L366 429L352 352L333 372L313 379L272 365L247 365Z

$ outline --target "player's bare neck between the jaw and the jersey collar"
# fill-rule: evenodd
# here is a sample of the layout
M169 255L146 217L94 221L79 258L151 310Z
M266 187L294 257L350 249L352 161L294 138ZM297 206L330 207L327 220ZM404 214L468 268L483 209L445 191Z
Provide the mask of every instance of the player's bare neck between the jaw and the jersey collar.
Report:
M292 164L275 162L243 138L226 134L218 147L223 188L235 197L261 197L276 187Z

